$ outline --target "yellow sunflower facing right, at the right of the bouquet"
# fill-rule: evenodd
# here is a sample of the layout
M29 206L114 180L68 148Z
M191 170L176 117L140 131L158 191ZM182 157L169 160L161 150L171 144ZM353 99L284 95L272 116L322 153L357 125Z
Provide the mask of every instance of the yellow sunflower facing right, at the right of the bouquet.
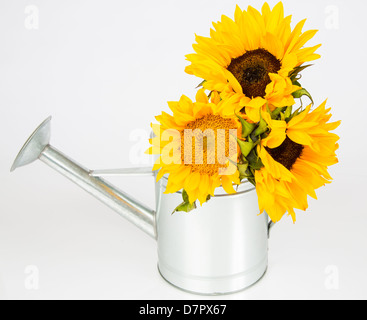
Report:
M312 112L308 106L288 122L262 113L270 133L257 149L264 166L255 171L256 191L260 212L265 210L273 222L286 212L295 221L294 209L306 210L307 195L316 199L315 190L332 180L327 167L338 162L339 137L329 131L340 121L328 123L325 105Z

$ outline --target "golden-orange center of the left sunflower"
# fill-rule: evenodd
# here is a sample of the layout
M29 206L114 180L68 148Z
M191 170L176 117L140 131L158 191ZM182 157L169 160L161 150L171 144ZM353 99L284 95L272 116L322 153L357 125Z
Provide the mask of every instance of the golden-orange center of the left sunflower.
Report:
M227 167L226 159L237 145L230 143L230 131L237 132L236 123L219 115L209 114L189 122L181 131L181 161L192 172L214 176Z

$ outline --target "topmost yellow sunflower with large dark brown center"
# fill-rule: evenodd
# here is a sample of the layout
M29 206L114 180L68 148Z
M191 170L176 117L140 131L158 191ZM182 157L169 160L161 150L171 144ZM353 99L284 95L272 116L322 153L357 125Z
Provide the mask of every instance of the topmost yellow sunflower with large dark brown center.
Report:
M294 105L292 93L300 87L290 74L320 58L315 51L321 45L303 47L317 32L302 32L305 22L291 30L291 16L284 17L281 2L273 10L265 3L261 13L237 6L234 20L223 15L213 23L210 37L196 36L196 53L186 56L191 64L185 71L204 79L204 88L222 97L238 95L242 112L257 122L265 105L271 111Z

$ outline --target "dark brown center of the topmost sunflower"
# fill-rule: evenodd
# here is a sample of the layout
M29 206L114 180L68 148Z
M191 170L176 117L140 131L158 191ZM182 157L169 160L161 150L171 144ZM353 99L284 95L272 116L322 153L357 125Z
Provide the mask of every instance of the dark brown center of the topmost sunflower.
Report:
M265 49L247 51L232 59L228 70L235 76L243 93L249 98L264 97L271 82L269 73L277 73L281 62Z

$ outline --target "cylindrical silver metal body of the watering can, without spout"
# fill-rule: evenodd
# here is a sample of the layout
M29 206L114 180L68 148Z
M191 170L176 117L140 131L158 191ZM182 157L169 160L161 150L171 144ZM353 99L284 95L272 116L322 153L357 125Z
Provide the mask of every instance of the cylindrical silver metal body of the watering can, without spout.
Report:
M250 183L238 194L216 196L190 213L172 213L180 194L158 184L158 267L171 284L200 294L236 292L257 282L268 262L268 217L258 215Z

